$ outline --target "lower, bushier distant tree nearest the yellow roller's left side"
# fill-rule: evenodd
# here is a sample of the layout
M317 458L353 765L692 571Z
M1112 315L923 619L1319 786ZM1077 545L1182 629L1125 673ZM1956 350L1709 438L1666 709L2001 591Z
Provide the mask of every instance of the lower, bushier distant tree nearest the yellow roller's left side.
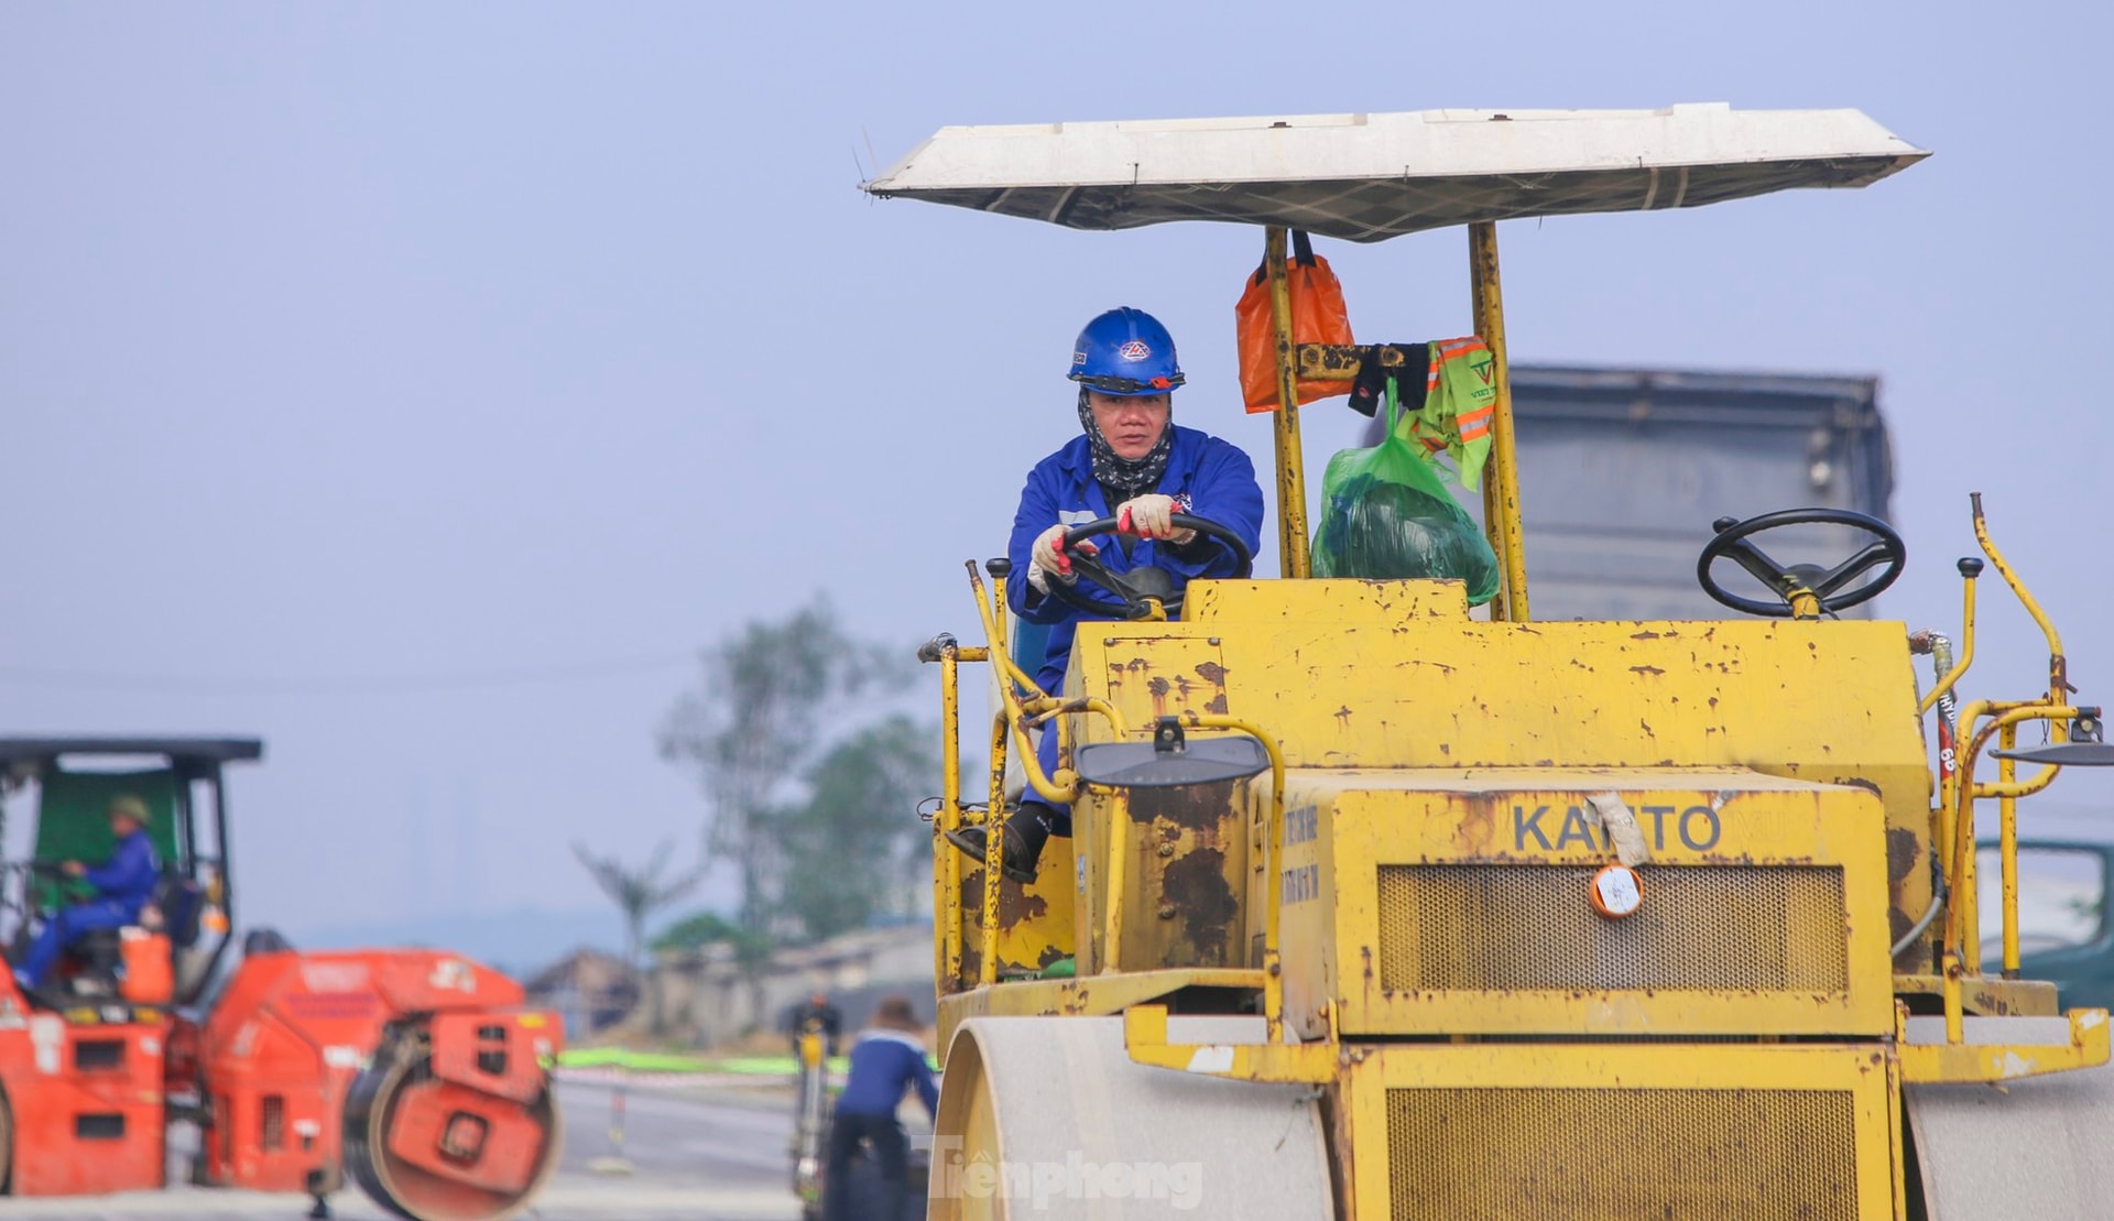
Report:
M932 832L913 811L939 788L939 729L886 716L829 748L805 779L808 801L769 824L780 910L810 938L915 910Z

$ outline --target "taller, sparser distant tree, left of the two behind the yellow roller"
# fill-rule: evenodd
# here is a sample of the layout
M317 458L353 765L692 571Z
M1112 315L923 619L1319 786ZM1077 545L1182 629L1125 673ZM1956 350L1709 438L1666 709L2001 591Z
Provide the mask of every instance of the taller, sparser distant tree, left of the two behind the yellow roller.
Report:
M850 638L818 598L786 619L748 623L702 661L698 687L662 725L660 750L698 775L708 805L706 860L734 864L742 889L736 919L763 934L786 877L784 839L772 820L803 803L801 777L827 750L831 729L858 712L854 699L901 691L911 655Z

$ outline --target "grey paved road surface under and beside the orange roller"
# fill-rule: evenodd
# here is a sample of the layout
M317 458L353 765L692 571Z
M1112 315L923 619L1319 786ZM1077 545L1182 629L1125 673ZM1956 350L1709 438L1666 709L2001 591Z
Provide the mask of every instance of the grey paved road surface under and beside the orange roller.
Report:
M632 1175L598 1175L590 1162L611 1153L609 1086L560 1084L564 1158L558 1175L524 1213L539 1221L791 1221L786 1141L789 1096L626 1094L624 1156ZM190 1134L171 1134L171 1147ZM186 1145L188 1151L188 1145ZM182 1162L171 1162L180 1166ZM171 1183L182 1181L171 1170ZM252 1221L307 1217L304 1196L260 1196L203 1187L133 1191L80 1200L0 1200L6 1221L186 1219ZM359 1187L332 1196L342 1221L400 1221Z

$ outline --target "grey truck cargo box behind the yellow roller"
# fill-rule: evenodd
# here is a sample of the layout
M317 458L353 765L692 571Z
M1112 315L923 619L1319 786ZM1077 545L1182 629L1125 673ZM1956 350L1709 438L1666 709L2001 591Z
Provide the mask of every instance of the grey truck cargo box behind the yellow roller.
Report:
M1736 617L1695 583L1712 520L1803 507L1886 518L1894 496L1877 378L1514 365L1512 414L1535 619ZM1480 515L1480 499L1463 501ZM1867 541L1820 526L1763 549L1833 564ZM1767 600L1729 562L1717 579Z

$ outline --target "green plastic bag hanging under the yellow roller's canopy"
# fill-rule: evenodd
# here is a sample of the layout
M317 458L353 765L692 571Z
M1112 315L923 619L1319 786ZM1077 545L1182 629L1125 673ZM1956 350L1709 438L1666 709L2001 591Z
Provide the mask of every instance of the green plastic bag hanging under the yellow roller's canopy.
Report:
M1465 581L1469 606L1482 606L1497 596L1497 551L1395 427L1399 412L1387 378L1387 435L1328 461L1313 575Z

